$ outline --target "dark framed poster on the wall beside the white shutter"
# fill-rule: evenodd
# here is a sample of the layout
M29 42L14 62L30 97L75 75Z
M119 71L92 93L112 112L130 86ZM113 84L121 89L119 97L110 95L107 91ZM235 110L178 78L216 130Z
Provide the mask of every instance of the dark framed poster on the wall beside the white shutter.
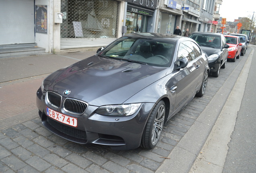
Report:
M35 6L35 32L47 34L47 6Z

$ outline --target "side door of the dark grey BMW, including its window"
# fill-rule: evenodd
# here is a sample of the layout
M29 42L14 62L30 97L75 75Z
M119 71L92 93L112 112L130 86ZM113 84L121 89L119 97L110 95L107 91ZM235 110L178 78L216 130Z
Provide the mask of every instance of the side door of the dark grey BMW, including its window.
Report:
M178 59L188 58L188 65L176 72L177 93L174 110L180 109L195 95L198 85L200 62L196 60L191 41L181 42L178 48ZM178 62L176 62L178 64Z

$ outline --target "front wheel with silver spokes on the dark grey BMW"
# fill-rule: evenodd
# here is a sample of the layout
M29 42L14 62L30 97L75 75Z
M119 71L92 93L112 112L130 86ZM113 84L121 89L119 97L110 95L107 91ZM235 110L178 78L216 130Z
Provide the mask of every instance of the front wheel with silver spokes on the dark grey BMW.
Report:
M141 147L153 149L157 145L163 130L164 120L165 103L164 101L159 101L149 115L145 131L142 134Z

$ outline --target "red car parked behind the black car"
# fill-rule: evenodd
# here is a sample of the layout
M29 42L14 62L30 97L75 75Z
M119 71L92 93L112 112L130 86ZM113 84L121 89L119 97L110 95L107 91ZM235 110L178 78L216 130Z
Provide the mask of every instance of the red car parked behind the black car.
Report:
M240 42L240 38L233 35L225 35L225 38L227 44L229 45L229 55L227 58L231 59L232 62L235 62L236 58L239 58L240 52L242 50L242 43Z

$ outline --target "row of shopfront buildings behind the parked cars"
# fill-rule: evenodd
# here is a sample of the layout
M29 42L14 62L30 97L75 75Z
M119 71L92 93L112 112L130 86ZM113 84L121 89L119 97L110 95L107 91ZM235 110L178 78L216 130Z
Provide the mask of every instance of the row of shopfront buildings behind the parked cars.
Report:
M219 0L218 0L219 1ZM211 32L215 0L0 0L0 48L106 46L131 32ZM201 5L201 6L200 6Z

